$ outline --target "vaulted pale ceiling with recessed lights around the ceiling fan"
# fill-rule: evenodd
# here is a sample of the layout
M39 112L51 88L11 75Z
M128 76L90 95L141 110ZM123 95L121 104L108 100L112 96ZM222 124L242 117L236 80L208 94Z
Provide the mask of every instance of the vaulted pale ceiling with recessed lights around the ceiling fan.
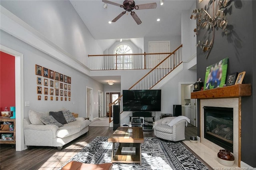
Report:
M126 12L118 21L108 24L118 14L124 11L123 8L108 4L104 9L104 2L101 0L70 0L84 24L96 40L116 40L158 36L180 36L181 35L181 13L191 8L194 0L135 0L136 4L156 2L156 9L134 10L139 16L142 24L137 25ZM123 0L113 0L122 4ZM128 15L127 15L128 14ZM190 16L188 16L190 17ZM157 19L160 19L157 22ZM101 43L105 43L102 41Z

